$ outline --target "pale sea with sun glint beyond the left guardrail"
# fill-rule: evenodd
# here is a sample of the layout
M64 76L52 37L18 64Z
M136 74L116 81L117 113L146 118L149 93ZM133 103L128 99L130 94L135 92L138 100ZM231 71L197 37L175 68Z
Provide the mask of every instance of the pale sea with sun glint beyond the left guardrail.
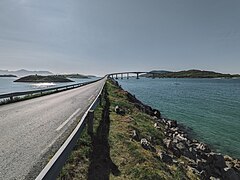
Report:
M6 94L11 92L20 92L20 91L32 91L38 89L52 88L58 86L66 86L70 84L76 84L81 82L93 81L98 78L91 79L71 79L75 82L70 83L22 83L22 82L13 82L18 78L13 77L0 77L0 94Z

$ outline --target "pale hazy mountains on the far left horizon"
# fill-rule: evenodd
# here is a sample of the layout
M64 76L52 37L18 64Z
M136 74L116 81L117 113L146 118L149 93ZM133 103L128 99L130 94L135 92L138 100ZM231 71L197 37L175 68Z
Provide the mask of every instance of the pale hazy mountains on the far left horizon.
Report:
M5 75L5 74L12 74L16 75L19 77L22 76L28 76L28 75L52 75L53 73L50 71L29 71L25 69L20 69L17 71L8 71L8 70L0 70L0 75Z

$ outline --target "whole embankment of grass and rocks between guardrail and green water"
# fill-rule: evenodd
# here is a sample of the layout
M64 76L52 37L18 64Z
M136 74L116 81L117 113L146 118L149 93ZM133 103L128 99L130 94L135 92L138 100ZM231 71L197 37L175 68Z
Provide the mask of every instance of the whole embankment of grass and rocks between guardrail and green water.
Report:
M177 121L143 104L109 79L86 130L58 179L240 178L240 161L191 139ZM86 129L86 128L85 128Z

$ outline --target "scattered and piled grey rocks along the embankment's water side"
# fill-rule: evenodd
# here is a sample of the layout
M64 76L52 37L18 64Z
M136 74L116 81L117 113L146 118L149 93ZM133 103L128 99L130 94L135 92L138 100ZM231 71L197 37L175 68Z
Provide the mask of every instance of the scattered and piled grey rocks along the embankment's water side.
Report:
M117 81L115 84L121 88ZM122 88L121 88L122 89ZM132 132L132 139L139 141L146 150L155 152L168 164L181 163L187 170L201 179L240 180L240 160L228 155L215 153L206 144L189 137L189 133L178 125L176 120L163 118L157 109L143 104L134 95L127 92L128 100L142 112L152 116L154 127L164 131L165 150L157 150L151 143L154 138L140 138L139 132ZM115 109L122 112L121 107Z

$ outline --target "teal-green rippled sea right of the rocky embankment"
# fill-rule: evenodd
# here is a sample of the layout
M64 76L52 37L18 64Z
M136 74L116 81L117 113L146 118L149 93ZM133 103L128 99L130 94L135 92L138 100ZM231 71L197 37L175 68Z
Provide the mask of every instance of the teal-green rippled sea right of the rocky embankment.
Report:
M240 79L118 79L145 104L191 129L213 150L240 158Z

